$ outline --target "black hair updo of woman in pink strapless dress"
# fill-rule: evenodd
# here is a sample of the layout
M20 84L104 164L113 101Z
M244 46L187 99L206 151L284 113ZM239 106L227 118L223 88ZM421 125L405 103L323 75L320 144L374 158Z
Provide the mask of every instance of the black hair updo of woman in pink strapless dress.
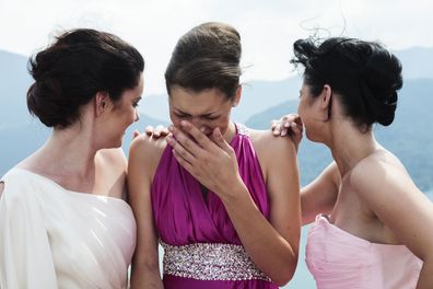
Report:
M329 84L358 126L370 129L374 123L393 123L402 86L401 63L395 55L378 43L344 37L319 45L313 38L299 39L293 46L291 62L304 66L304 82L314 96Z

